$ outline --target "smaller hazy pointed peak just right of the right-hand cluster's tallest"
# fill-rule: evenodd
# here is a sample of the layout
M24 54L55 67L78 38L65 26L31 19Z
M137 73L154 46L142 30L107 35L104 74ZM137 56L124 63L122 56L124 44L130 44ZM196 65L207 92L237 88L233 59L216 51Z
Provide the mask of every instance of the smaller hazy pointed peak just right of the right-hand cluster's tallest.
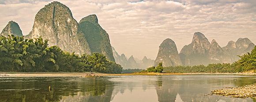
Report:
M231 46L232 47L232 46ZM231 52L224 51L222 47L218 45L216 40L211 41L211 47L207 53L208 63L228 63L231 62Z

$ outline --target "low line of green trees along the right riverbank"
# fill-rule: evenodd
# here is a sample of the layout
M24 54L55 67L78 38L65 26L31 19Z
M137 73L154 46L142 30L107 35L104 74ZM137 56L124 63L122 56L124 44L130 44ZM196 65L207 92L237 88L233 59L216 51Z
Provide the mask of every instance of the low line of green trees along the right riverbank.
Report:
M241 73L247 71L256 71L256 46L251 53L239 56L237 62L215 63L208 66L169 66L164 68L164 72L169 73Z

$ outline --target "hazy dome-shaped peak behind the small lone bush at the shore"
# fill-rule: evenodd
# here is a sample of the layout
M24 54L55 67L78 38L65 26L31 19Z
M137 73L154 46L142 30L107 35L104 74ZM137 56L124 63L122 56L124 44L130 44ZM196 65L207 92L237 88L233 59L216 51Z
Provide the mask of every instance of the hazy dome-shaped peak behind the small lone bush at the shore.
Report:
M163 62L163 66L180 66L182 65L176 44L171 39L166 39L159 46L158 55L154 61L156 66Z

